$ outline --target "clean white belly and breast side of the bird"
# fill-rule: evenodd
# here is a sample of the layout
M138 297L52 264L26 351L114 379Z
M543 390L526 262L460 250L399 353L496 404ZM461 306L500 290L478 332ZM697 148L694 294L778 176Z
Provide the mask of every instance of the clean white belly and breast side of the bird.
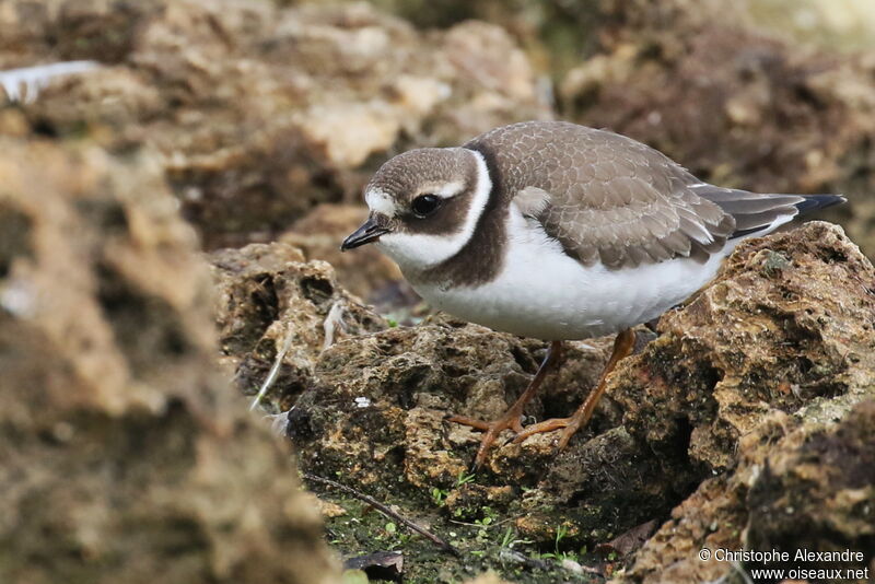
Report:
M509 256L494 280L476 288L411 282L416 291L444 312L495 330L585 339L645 323L682 302L714 277L737 243L707 264L679 258L618 270L587 268L534 223L511 215Z

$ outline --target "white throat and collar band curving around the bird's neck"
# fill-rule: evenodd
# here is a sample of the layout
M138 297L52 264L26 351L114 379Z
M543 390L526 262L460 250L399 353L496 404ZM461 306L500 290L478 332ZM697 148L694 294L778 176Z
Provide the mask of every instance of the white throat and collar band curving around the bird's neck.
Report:
M451 235L387 233L380 237L376 243L376 246L384 254L398 264L405 275L416 273L450 259L462 250L471 238L471 235L474 235L477 221L483 213L487 202L489 202L492 180L489 178L489 171L483 155L475 150L468 150L467 152L477 162L477 178L471 202L462 229ZM371 205L371 198L368 199L368 202Z

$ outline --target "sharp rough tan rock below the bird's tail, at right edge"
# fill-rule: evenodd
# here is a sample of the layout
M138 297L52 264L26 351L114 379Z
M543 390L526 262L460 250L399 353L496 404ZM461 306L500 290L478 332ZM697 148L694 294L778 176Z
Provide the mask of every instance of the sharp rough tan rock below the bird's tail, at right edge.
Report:
M875 385L875 271L841 231L812 222L744 242L611 389L623 425L656 452L687 445L704 472L735 464L769 411Z

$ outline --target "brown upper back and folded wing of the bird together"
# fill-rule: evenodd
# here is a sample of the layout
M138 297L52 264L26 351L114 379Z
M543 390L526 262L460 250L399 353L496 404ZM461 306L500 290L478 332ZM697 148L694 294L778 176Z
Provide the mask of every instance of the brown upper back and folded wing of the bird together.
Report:
M466 147L492 160L505 197L545 191L548 201L536 206L535 217L587 266L704 260L735 231L732 213L696 192L699 180L630 138L536 121L499 128Z

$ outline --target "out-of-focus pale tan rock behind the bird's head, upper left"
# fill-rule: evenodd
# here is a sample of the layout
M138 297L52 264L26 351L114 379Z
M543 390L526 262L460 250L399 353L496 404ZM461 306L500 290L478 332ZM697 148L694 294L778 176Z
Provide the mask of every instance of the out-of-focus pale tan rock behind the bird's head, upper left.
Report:
M50 83L23 107L27 124L155 147L209 247L358 199L395 149L549 116L502 28L423 35L364 3L10 0L0 38L0 67L105 65Z

